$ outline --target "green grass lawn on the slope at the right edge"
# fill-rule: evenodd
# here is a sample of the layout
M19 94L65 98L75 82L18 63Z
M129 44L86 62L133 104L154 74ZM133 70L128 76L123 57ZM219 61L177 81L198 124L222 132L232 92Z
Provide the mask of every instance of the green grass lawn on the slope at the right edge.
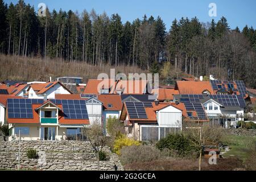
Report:
M244 162L249 153L255 150L256 136L225 135L221 141L223 144L227 144L230 149L223 155L224 157L236 156Z

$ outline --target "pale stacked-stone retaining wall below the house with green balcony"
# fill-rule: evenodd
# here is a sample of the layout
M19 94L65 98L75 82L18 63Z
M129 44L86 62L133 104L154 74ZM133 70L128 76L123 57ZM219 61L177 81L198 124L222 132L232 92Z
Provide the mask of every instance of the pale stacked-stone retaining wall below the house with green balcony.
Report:
M34 148L38 159L28 159L26 151ZM19 143L0 142L0 169L18 168ZM123 170L118 155L109 147L104 151L107 160L100 161L100 170ZM20 142L20 168L34 170L97 170L97 155L89 142L81 141L24 141Z

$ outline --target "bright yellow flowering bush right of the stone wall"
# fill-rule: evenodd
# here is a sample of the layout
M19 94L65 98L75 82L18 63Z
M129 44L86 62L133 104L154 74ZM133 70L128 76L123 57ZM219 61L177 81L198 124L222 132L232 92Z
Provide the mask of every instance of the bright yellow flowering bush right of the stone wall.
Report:
M134 140L134 139L130 139L125 137L125 135L120 135L119 138L114 140L114 148L113 151L120 155L120 150L123 146L139 146L141 143L139 143L138 141Z

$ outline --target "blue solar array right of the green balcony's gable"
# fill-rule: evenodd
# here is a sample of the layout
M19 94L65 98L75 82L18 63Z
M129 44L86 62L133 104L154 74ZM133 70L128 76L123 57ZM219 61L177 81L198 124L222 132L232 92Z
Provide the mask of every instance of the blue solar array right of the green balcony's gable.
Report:
M50 100L62 105L65 119L89 119L85 100Z

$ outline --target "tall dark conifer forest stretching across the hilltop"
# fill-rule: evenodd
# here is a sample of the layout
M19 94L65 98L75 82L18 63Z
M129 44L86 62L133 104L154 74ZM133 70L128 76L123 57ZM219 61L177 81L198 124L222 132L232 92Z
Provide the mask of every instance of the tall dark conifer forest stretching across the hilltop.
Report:
M181 73L222 80L243 80L256 88L256 30L229 27L196 17L174 18L166 27L158 17L144 15L133 22L121 16L46 9L46 16L23 0L0 0L0 52L96 67L138 67L176 80ZM1 56L2 57L2 56ZM2 60L1 60L2 61Z

